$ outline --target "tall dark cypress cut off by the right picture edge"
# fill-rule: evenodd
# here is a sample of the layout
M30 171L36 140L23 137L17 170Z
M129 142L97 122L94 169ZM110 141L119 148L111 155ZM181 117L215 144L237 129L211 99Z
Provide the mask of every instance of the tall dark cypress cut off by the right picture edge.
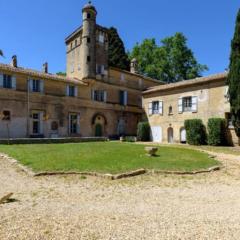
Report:
M235 33L231 44L230 66L228 75L229 99L233 125L240 137L240 10L238 11Z

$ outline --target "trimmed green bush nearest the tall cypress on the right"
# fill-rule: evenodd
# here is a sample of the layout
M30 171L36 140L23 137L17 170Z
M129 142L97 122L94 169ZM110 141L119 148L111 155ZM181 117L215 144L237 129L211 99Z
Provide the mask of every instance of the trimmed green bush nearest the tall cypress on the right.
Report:
M210 118L208 120L208 144L223 146L226 144L226 121L223 118Z

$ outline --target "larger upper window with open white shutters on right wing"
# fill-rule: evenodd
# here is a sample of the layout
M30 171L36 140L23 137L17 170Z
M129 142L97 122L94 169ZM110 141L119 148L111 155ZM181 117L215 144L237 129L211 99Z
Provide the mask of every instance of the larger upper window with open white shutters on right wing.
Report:
M184 97L178 99L178 112L197 112L198 107L198 98L193 97Z

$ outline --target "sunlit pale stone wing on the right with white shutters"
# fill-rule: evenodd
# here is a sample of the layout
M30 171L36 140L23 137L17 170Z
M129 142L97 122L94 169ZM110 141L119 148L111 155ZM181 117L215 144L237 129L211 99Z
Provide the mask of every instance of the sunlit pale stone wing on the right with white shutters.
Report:
M164 143L186 143L184 121L224 118L229 144L238 144L231 121L228 73L155 86L143 92L143 105L151 125L152 140Z

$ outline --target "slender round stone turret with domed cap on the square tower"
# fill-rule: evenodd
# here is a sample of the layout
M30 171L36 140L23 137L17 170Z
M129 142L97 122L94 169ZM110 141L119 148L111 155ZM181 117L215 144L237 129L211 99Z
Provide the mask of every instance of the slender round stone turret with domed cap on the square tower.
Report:
M82 78L96 77L96 16L97 11L91 1L82 9Z

